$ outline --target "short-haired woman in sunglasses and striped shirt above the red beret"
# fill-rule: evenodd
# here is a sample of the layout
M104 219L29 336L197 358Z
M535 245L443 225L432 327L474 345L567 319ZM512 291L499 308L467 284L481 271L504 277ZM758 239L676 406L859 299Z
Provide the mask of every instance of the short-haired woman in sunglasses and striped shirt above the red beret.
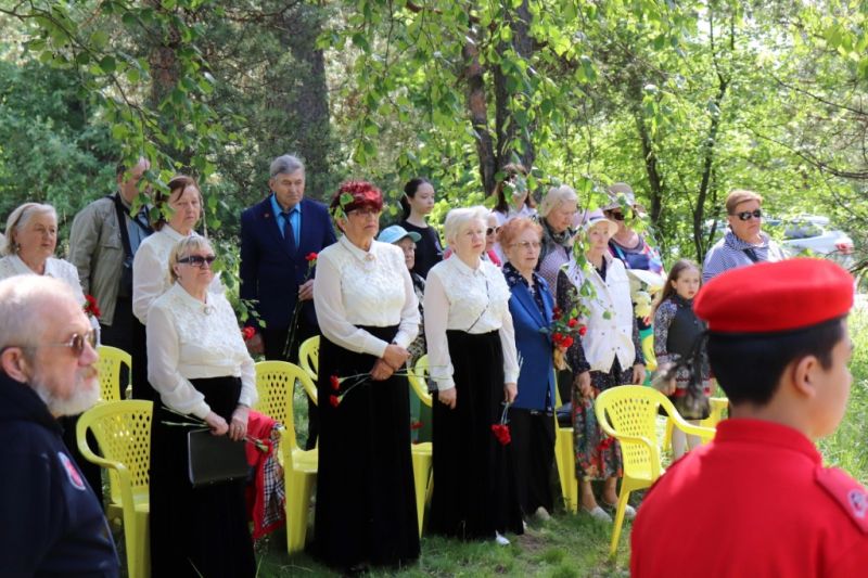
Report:
M755 262L782 261L783 249L762 231L763 197L753 191L736 190L726 197L729 230L705 255L702 282Z

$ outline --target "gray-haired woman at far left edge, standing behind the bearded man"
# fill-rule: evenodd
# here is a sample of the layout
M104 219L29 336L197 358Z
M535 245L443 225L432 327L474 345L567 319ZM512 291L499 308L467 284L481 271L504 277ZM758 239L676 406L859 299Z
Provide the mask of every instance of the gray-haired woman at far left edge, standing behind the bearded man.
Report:
M54 257L58 246L58 213L51 205L39 203L25 203L15 208L7 220L5 242L0 244L0 281L14 275L46 275L63 281L78 303L86 304L85 293L78 280L78 269L64 259ZM93 327L93 344L99 342L99 321L94 316L89 316ZM61 418L63 424L63 440L69 448L79 470L97 492L102 498L102 476L100 466L88 462L78 452L75 438L75 426L78 415Z

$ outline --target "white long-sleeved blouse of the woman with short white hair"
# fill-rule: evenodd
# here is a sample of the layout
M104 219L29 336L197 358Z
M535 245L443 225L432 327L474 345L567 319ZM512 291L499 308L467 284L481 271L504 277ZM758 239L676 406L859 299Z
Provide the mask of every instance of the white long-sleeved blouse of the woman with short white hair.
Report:
M502 271L488 261L471 269L457 255L435 265L425 279L425 341L437 389L455 387L448 330L471 334L497 331L503 348L506 383L519 381L519 355L509 312L510 292ZM485 360L480 360L484 363Z

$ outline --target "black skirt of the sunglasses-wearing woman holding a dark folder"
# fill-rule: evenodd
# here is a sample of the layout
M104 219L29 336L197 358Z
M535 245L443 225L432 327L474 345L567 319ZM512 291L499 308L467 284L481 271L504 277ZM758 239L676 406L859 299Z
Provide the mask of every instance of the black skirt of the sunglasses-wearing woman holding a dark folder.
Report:
M238 407L238 377L190 380L227 423ZM244 480L193 489L184 418L154 404L151 425L151 575L247 577L256 575L244 505Z

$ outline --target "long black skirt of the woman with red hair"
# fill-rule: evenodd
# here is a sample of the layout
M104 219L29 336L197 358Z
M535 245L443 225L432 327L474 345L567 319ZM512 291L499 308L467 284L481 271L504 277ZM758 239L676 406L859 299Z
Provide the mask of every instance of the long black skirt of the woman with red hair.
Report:
M385 342L397 333L397 326L362 329ZM398 566L419 557L407 378L368 380L336 407L329 402L332 375L367 374L375 361L320 337L314 554L340 568Z

